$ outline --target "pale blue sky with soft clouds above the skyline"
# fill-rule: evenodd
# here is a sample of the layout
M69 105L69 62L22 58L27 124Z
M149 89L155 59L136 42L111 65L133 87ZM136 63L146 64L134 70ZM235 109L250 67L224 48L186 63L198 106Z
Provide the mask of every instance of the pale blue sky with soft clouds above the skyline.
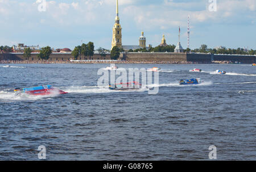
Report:
M111 48L116 0L0 0L0 45L70 48L92 41ZM144 32L153 47L180 42L187 48L256 49L256 0L119 0L122 44L138 45Z

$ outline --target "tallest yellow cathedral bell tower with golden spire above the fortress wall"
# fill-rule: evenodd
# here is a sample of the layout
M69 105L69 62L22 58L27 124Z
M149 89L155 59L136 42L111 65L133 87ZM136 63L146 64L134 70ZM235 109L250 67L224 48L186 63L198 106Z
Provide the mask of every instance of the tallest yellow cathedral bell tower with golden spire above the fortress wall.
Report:
M118 48L122 48L122 28L121 28L120 19L118 16L118 0L117 0L116 14L117 15L115 16L115 24L113 27L112 48L115 46L117 46Z

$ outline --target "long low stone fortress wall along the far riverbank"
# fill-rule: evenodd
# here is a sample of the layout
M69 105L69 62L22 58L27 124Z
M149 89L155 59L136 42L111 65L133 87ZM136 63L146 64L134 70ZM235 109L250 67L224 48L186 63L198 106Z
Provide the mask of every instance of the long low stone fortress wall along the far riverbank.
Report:
M256 56L236 56L236 55L213 55L213 54L186 54L186 53L126 53L121 56L129 61L144 61L144 62L198 62L198 63L210 63L213 61L232 61L242 62L243 64L253 64L256 62ZM101 57L100 54L94 54L91 57L92 60L110 60L110 54L106 54L105 57ZM49 60L51 61L69 61L73 59L71 54L55 53L51 54ZM38 61L38 54L31 54L30 58L23 57L20 53L8 53L1 54L0 60L33 60ZM78 57L80 60L80 57ZM89 57L81 56L81 60L90 60Z

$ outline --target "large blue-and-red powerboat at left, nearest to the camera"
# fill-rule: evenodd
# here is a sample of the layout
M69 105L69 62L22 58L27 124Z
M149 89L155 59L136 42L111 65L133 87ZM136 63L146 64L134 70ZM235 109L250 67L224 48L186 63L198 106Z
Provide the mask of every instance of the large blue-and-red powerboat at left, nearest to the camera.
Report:
M22 93L28 94L28 95L68 94L65 91L55 89L54 87L52 87L50 85L43 85L43 86L39 86L39 87L31 87L31 88L24 88L24 89L16 88L14 90L14 92L16 92L16 95L19 95L19 94L22 94Z

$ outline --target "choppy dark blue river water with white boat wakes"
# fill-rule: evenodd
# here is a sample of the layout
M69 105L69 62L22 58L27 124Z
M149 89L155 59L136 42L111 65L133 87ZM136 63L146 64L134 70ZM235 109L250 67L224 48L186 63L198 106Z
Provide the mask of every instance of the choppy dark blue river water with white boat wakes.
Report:
M256 68L250 65L120 64L162 68L159 93L97 87L108 64L0 66L0 160L256 160ZM189 72L203 69L202 73ZM226 75L214 74L217 69ZM179 86L179 79L203 84ZM69 94L16 97L15 87Z

